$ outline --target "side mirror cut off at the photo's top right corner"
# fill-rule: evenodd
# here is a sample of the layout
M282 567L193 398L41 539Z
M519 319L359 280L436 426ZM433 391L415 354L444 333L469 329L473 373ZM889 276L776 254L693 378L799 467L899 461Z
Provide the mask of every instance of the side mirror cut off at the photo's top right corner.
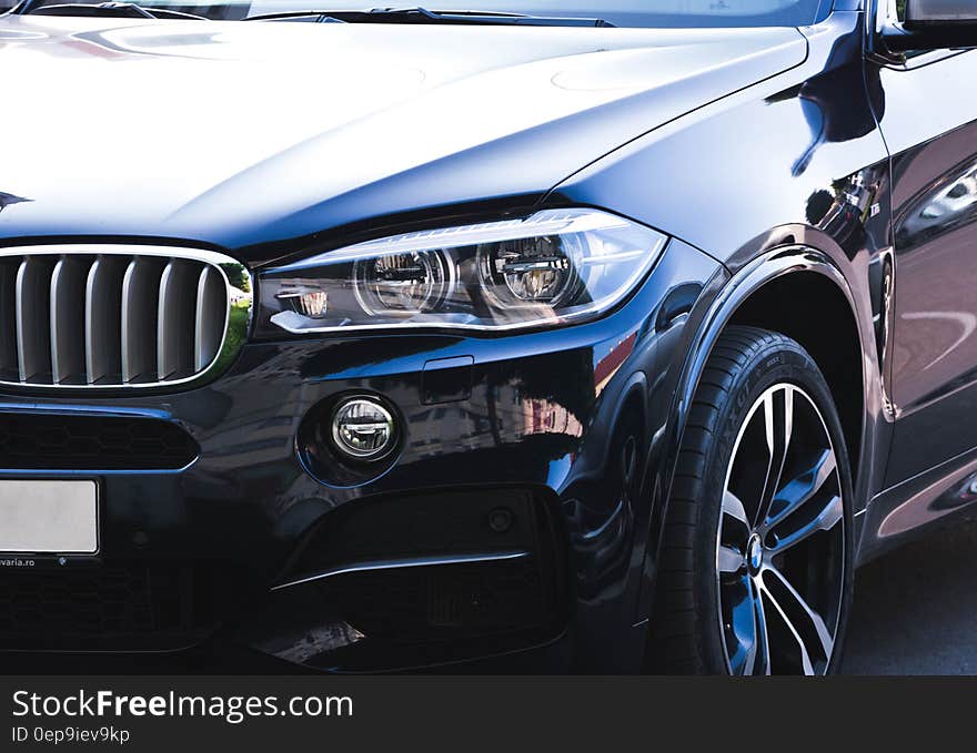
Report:
M907 0L906 20L882 35L893 52L977 47L977 0Z

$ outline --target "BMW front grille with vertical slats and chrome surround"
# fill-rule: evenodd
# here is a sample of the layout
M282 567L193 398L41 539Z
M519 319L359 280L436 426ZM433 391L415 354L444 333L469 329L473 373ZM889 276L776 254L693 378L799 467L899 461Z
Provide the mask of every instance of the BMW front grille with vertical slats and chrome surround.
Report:
M229 344L240 347L250 315L251 278L220 254L145 246L0 250L0 384L181 384L214 367ZM241 336L229 337L232 328Z

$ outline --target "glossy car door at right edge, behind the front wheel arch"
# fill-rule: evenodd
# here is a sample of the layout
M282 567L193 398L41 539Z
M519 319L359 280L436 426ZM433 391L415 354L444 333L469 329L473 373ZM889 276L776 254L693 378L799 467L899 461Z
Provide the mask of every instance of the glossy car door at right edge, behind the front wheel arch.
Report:
M977 447L977 51L869 62L892 153L892 486Z

